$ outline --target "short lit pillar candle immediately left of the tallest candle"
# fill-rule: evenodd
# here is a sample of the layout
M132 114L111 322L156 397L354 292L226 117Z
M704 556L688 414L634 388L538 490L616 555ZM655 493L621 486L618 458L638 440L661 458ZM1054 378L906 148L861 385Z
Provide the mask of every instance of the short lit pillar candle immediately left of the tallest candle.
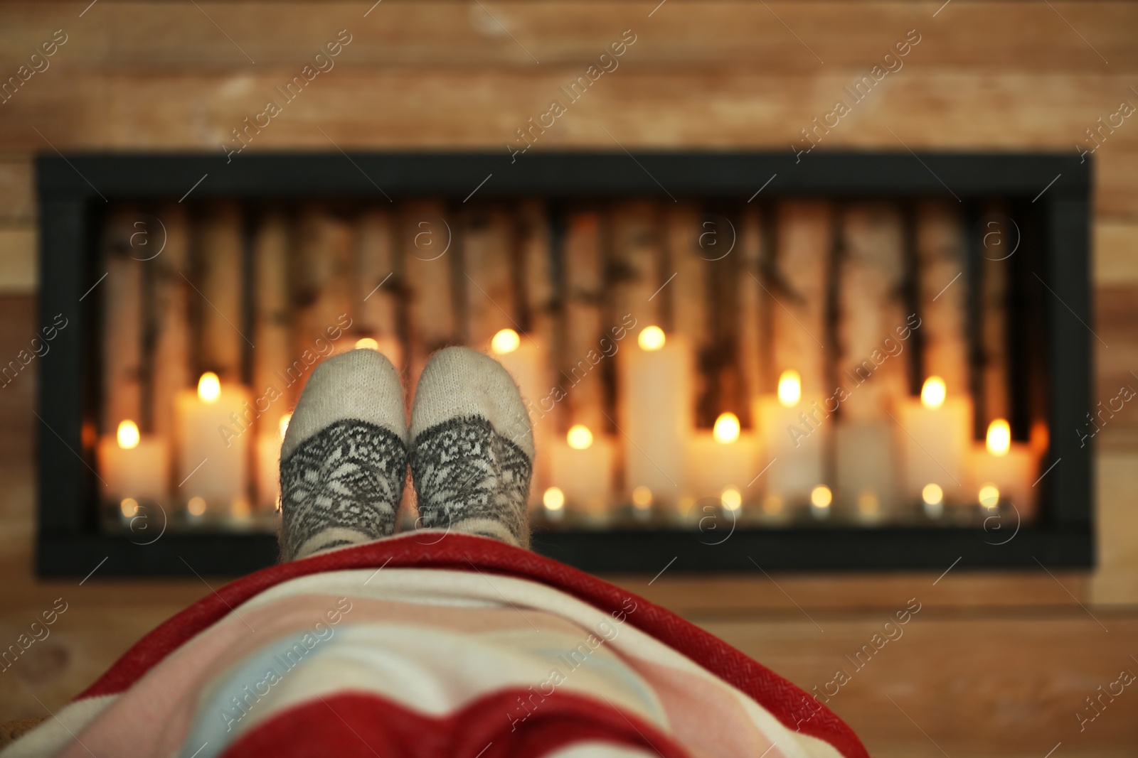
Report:
M586 520L602 522L612 497L612 467L616 445L612 440L594 436L587 426L577 424L566 440L550 448L551 481L564 494L564 501Z

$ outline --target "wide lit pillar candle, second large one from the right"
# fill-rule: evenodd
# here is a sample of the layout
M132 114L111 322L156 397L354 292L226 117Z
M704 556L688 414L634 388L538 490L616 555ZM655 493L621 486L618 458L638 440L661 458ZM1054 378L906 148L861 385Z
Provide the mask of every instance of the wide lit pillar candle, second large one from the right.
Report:
M927 503L922 493L929 484L939 486L942 498L948 493L953 501L971 499L964 467L972 447L972 401L947 397L945 381L930 376L921 399L904 398L897 411L906 501Z

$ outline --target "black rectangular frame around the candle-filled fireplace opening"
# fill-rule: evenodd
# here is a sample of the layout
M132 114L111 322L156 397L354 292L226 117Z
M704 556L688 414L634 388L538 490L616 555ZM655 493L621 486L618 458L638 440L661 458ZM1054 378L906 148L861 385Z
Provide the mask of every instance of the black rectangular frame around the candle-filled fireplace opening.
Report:
M1091 163L1064 153L566 151L69 153L36 160L41 324L68 326L38 360L36 570L41 576L238 575L275 559L266 534L170 533L149 545L98 531L94 398L86 367L93 318L83 302L98 285L100 207L116 199L698 195L749 202L756 195L867 199L908 195L962 202L1016 197L1038 208L1047 232L1048 422L1052 466L1038 524L978 528L736 530L719 544L681 530L539 531L535 549L594 573L1089 567L1092 447L1064 430L1091 408ZM465 201L463 201L465 202ZM84 422L88 431L84 434ZM1061 432L1062 431L1062 432ZM1005 541L1006 540L1006 541Z

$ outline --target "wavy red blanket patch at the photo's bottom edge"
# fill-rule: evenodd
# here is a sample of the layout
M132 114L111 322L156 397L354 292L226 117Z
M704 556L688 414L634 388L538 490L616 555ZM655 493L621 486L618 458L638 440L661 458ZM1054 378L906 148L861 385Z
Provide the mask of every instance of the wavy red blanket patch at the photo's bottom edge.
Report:
M687 758L681 745L635 714L554 692L526 711L527 690L504 690L447 716L432 717L387 698L348 692L305 702L257 724L221 758L537 758L576 742L640 748ZM511 715L513 718L511 718Z

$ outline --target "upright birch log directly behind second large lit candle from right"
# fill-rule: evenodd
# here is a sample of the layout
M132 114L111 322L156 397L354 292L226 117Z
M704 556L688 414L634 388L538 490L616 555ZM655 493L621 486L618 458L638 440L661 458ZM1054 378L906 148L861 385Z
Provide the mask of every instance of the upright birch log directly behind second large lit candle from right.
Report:
M917 209L917 281L924 373L945 380L949 397L968 393L967 277L963 227L947 203Z

